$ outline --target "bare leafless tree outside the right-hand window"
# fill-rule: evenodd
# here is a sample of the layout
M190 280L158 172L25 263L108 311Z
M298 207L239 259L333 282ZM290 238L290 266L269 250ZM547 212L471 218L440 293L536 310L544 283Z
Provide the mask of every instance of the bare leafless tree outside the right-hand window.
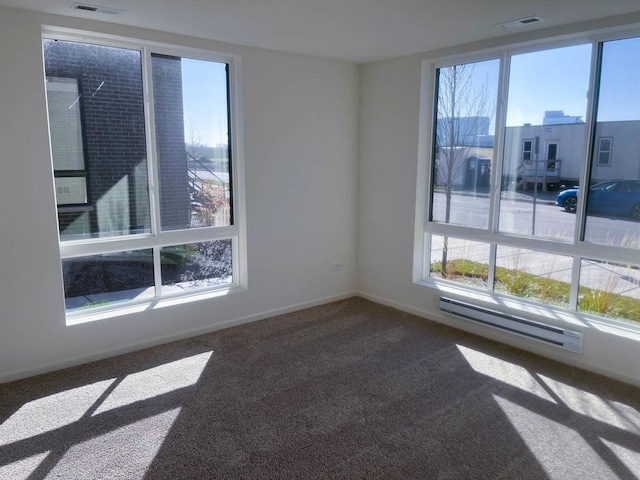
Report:
M444 222L451 220L451 195L454 182L478 135L486 134L492 117L488 81L477 84L474 64L453 65L438 70L436 119L435 184L444 189ZM444 238L442 274L447 273L449 241Z

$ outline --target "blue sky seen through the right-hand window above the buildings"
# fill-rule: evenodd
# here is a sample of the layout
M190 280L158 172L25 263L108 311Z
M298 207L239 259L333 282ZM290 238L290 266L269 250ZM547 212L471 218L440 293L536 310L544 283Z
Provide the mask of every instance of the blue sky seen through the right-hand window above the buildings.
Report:
M589 43L513 55L507 126L541 125L547 110L561 110L585 120L591 49ZM487 85L493 108L499 68L496 59L477 62L473 69L473 83ZM604 43L598 121L614 120L640 120L640 38ZM492 126L490 133L493 130Z

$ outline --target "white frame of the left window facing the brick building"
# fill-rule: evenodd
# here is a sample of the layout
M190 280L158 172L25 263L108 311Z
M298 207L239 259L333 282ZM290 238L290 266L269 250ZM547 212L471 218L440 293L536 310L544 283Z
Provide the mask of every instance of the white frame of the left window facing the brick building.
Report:
M155 291L153 298L117 302L105 306L96 306L86 310L67 311L67 324L82 323L94 319L139 311L142 308L159 308L182 300L192 301L217 297L248 288L247 281L247 241L245 215L245 171L244 137L241 118L242 107L242 68L239 55L220 53L191 47L168 45L126 37L94 32L78 31L56 26L43 26L42 39L66 40L100 46L137 50L142 59L142 82L144 94L144 113L146 129L147 168L149 173L149 204L151 210L151 233L133 234L122 237L105 237L89 240L62 240L59 237L60 259L79 258L90 255L123 252L130 250L153 249ZM157 185L157 152L153 105L153 79L151 74L151 54L172 55L197 60L226 63L229 66L229 126L231 195L233 205L233 225L199 227L185 230L162 231L159 216L159 195ZM44 71L43 71L44 76ZM160 248L172 245L184 245L215 240L231 240L232 283L215 287L188 290L184 293L163 293L160 280ZM64 295L63 295L64 296Z

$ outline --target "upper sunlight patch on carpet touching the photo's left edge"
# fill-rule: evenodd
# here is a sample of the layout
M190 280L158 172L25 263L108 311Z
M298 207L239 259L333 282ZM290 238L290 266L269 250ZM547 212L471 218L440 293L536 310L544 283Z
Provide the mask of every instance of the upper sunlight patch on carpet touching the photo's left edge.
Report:
M83 385L25 403L0 425L0 446L77 422L114 381Z

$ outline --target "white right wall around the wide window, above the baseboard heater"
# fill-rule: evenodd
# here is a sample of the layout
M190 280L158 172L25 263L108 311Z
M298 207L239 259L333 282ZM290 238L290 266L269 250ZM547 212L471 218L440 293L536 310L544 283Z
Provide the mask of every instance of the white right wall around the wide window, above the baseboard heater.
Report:
M638 21L637 17L635 21ZM584 28L600 26L605 25L597 22L582 25ZM576 26L576 30L579 27ZM558 29L554 32L571 33ZM502 41L530 38L530 35L510 37ZM422 61L497 45L496 41L490 41L363 66L360 83L359 290L373 300L640 385L640 334L637 331L625 337L621 336L620 330L602 325L573 325L585 334L584 351L571 354L447 317L438 309L439 291L412 281ZM429 129L430 126L425 125L425 130Z

